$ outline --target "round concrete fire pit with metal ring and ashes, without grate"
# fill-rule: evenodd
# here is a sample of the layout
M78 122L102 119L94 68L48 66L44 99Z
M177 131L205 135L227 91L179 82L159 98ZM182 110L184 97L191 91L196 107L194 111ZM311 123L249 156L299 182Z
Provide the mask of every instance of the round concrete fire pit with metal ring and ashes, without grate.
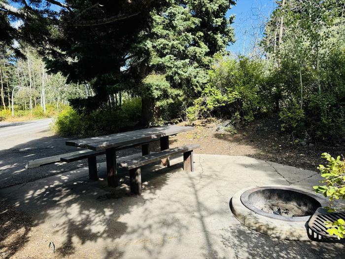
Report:
M308 240L306 223L323 206L326 201L319 196L281 185L249 187L231 200L232 212L244 225L289 240Z

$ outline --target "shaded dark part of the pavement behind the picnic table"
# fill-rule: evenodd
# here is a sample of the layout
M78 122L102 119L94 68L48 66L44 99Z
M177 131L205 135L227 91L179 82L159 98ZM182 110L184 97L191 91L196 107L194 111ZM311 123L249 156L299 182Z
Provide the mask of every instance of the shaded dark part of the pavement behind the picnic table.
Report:
M25 169L25 165L29 160L81 150L80 148L66 146L65 143L68 140L69 138L49 136L16 145L13 148L0 150L0 188L35 181L87 166L87 159L83 159L70 163L55 163ZM151 146L152 150L159 150L157 143L152 143ZM140 151L139 148L129 148L117 151L116 154L121 157L138 151ZM105 161L105 155L98 156L97 160L100 162Z

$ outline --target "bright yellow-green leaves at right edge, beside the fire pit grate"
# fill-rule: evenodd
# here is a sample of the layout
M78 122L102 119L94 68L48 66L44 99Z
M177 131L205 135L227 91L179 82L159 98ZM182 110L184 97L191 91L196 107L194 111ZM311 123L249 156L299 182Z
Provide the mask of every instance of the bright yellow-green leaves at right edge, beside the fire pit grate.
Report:
M313 186L316 193L322 193L325 197L329 198L329 206L327 207L330 212L337 210L344 210L338 208L334 204L334 200L345 200L345 159L338 156L332 157L329 153L322 153L322 157L327 160L327 165L319 165L317 168L320 170L321 177L324 178L322 183L325 185ZM345 235L345 219L338 219L334 222L325 222L328 227L327 232L330 235L335 235L338 239L344 238Z

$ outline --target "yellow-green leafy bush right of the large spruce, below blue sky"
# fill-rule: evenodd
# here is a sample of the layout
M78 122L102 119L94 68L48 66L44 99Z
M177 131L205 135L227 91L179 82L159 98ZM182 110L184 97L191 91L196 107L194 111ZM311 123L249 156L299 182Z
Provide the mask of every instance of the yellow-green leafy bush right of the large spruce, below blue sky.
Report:
M194 106L187 109L187 117L190 120L207 116L231 118L238 112L242 120L251 121L264 107L258 94L262 83L264 73L260 62L216 55L209 82Z

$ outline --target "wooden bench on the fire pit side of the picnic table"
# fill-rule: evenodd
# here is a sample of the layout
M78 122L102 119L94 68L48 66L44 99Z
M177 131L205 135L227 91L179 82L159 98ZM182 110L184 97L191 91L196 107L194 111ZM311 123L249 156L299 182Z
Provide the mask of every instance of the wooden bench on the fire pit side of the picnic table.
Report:
M120 165L129 170L131 192L134 194L141 194L141 166L168 158L174 154L183 153L183 170L193 172L193 150L196 148L200 148L200 145L193 144L178 148L168 148L159 152L143 155L137 159L121 162Z

